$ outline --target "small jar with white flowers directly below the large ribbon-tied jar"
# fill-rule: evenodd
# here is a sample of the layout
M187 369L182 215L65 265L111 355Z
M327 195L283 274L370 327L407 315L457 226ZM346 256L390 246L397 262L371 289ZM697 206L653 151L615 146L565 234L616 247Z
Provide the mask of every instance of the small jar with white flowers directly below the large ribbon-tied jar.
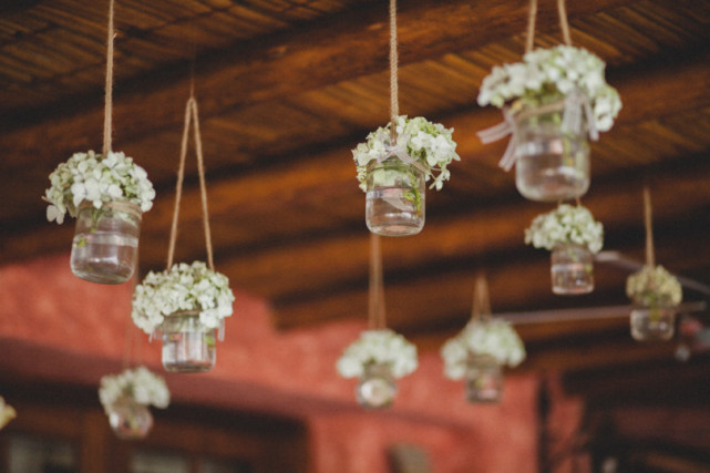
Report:
M604 226L588 208L560 204L525 229L525 243L550 253L552 290L580 295L594 290L594 255L604 245Z

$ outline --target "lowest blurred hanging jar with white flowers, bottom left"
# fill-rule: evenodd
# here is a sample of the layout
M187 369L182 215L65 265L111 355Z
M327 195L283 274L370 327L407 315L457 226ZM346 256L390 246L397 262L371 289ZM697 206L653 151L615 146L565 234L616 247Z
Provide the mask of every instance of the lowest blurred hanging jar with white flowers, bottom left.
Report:
M124 440L138 440L153 426L148 405L167 408L169 391L163 378L137 367L101 378L99 399L115 434Z

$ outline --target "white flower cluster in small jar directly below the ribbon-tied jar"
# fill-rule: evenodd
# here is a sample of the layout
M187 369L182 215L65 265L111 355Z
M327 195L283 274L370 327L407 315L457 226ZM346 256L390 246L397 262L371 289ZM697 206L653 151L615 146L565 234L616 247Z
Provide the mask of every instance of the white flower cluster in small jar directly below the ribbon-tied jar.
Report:
M604 226L594 219L588 208L560 204L533 219L525 229L525 244L549 250L558 244L576 244L596 254L604 245Z

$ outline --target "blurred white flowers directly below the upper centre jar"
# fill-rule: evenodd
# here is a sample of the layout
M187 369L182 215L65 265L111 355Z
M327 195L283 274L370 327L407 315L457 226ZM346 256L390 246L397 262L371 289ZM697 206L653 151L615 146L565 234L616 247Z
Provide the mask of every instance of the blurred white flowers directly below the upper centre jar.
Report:
M402 378L419 366L416 347L389 329L366 330L344 350L336 368L341 377L356 378L371 363L387 364L394 378Z

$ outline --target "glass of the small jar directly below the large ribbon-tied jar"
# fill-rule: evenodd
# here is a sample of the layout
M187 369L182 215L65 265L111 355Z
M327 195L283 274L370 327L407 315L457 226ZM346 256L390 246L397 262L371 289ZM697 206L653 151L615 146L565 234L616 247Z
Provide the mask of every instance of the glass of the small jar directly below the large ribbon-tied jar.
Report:
M584 245L557 245L550 254L553 292L588 294L594 290L594 256Z

